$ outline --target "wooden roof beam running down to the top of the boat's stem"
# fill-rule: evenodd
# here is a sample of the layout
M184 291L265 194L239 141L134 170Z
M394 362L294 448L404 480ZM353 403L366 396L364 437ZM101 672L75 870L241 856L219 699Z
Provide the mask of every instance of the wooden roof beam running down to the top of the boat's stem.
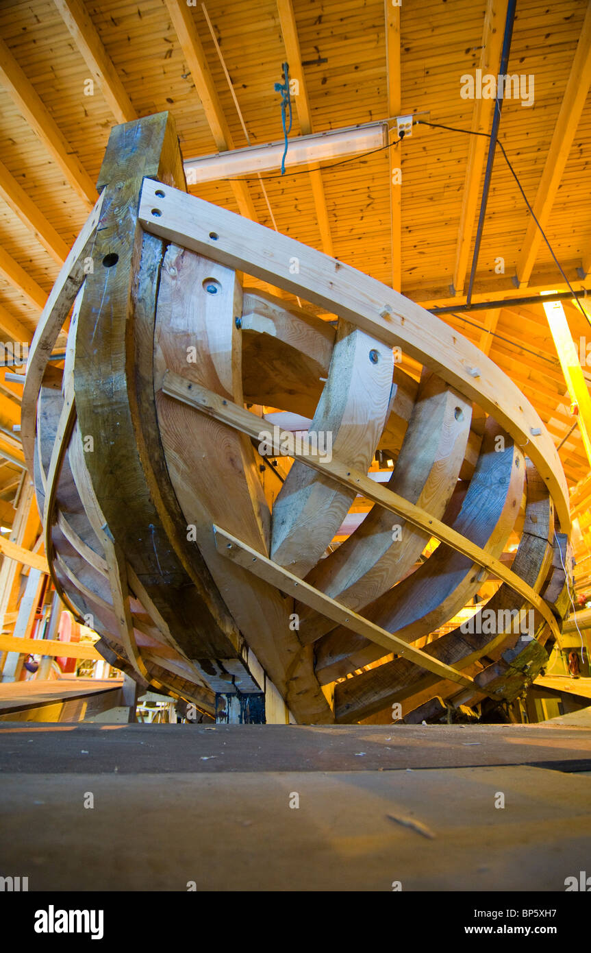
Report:
M108 102L118 123L137 119L128 93L117 75L108 52L81 0L53 0L74 43Z

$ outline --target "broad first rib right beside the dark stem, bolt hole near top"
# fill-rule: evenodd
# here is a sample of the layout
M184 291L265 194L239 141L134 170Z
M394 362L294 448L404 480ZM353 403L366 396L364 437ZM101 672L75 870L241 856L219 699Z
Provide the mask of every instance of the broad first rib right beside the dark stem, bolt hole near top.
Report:
M155 334L156 400L167 468L187 532L194 533L232 618L269 678L298 720L332 720L311 652L289 627L290 603L272 586L253 584L215 549L211 524L219 517L254 549L268 552L269 513L248 440L158 392L168 364L187 369L190 386L204 381L221 400L241 401L236 314L242 314L242 302L235 274L170 246L160 278ZM260 430L262 421L256 419Z

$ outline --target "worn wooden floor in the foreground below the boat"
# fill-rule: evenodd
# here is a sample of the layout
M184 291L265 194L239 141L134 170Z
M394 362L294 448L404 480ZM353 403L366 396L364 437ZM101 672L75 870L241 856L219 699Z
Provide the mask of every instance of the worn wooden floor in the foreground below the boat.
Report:
M588 869L590 770L590 710L531 726L5 722L0 813L19 834L1 865L32 891L563 891Z

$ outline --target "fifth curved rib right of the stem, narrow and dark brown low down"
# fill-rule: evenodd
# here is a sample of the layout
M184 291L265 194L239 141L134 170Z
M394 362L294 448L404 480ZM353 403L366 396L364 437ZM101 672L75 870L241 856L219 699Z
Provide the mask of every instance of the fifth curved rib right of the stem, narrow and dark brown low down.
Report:
M547 488L531 463L527 466L526 481L525 522L513 560L513 571L536 592L540 592L552 558L550 540L554 531L554 508ZM503 584L483 608L495 613L500 610L519 612L527 604L525 599L516 598L515 592ZM482 613L483 609L475 617L474 633L457 628L425 645L424 652L468 675L476 676L482 668L479 659L483 656L495 658L505 645L515 644L520 639L519 635L509 635L506 631L491 638L486 634L486 627L483 632ZM541 629L549 631L545 619L539 617L535 638L543 642ZM333 680L333 675L327 670L319 675L323 682ZM419 693L428 693L429 697L443 694L444 697L449 694L450 687L455 688L451 682L439 683L430 673L421 672L406 659L393 659L336 685L335 716L340 722L350 723L367 718L395 701L410 697L414 699Z

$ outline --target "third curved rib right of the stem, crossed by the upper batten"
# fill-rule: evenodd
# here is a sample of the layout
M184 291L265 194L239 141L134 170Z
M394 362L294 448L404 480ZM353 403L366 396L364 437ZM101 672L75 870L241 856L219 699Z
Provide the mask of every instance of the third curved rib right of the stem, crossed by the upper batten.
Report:
M462 467L471 415L462 396L427 372L388 489L443 517ZM396 525L393 534L391 513L374 506L306 581L352 609L363 609L406 575L429 540L404 520ZM332 627L325 618L310 616L305 607L296 605L296 612L305 642L320 639Z

